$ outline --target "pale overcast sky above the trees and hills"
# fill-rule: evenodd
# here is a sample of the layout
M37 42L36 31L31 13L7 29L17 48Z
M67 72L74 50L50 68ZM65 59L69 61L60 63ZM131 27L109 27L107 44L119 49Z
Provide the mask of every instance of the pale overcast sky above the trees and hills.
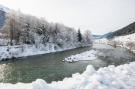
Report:
M105 34L135 21L135 0L0 0L23 13Z

